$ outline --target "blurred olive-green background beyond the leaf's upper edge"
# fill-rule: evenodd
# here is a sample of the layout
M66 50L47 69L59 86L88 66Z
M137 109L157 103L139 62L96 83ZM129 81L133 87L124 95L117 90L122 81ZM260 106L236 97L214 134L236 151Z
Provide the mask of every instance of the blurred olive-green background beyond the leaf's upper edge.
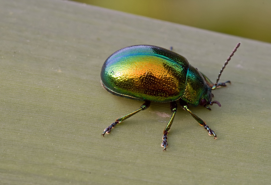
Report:
M271 43L271 0L75 0Z

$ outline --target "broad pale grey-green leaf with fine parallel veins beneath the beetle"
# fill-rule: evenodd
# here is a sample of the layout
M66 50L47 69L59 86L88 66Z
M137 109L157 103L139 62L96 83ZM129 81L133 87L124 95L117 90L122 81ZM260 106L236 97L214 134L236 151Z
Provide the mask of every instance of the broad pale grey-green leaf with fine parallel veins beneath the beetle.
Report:
M1 184L269 184L271 45L69 1L0 2ZM100 84L114 51L169 48L226 88L222 107L178 109L168 151L160 146L169 104L100 134L142 104Z

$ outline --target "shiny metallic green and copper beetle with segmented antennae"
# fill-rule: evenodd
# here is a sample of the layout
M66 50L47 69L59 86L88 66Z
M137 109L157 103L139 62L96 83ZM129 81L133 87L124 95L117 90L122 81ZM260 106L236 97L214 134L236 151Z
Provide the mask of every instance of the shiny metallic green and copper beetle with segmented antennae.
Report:
M173 123L177 112L178 100L181 108L190 113L198 123L208 131L208 134L217 138L217 135L210 129L206 122L194 114L189 106L204 106L211 110L209 105L217 104L218 101L212 101L212 90L224 83L218 83L221 73L231 60L240 43L236 45L230 56L225 61L213 84L202 72L188 63L185 57L171 50L151 45L136 45L120 49L110 55L102 66L101 80L102 86L110 93L145 101L143 105L134 112L116 119L107 127L102 135L109 134L111 129L118 123L126 120L132 115L146 110L151 101L170 102L171 118L165 127L162 137L164 150L168 146L167 135Z

